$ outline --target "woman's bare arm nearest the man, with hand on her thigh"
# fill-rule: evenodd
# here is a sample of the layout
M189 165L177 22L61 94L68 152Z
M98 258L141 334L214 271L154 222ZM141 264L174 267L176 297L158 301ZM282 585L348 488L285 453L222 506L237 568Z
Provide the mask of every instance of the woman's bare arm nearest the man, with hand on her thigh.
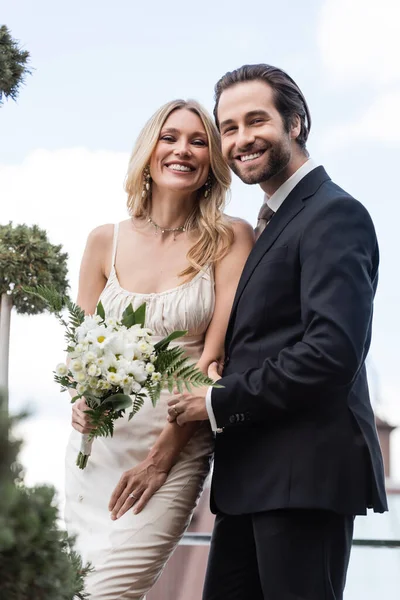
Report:
M228 320L236 288L247 257L254 245L253 229L248 223L233 223L235 239L229 253L215 268L215 309L207 329L204 350L197 363L207 373L213 361L223 360L223 349ZM186 446L198 423L180 427L167 423L147 458L123 473L109 503L111 518L119 518L133 507L140 512L153 494L163 485L182 449ZM129 496L134 494L135 498Z

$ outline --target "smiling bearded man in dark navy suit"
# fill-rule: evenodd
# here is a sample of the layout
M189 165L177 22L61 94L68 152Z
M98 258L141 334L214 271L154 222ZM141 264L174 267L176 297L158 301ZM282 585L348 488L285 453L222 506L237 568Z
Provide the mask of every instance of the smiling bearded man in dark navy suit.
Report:
M203 599L339 600L354 516L387 510L364 364L374 226L309 158L309 110L286 73L244 66L215 91L225 158L265 199L223 387L170 402L170 419L209 419L217 431Z

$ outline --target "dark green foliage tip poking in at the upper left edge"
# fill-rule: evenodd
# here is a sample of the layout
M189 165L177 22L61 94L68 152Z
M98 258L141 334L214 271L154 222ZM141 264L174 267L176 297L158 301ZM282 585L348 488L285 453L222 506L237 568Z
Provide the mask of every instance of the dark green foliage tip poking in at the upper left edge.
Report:
M0 27L0 106L3 98L16 100L28 69L29 52L21 50L5 25Z

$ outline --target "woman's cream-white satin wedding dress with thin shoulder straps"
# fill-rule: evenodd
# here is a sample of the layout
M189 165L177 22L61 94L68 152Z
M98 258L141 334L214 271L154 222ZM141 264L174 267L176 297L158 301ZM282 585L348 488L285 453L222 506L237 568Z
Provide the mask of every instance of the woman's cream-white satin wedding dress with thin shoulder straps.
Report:
M118 225L115 226L112 268L101 301L108 315L120 317L129 303L147 304L146 326L159 338L188 330L179 340L194 360L199 359L211 320L215 296L211 269L190 282L165 292L137 294L121 288L115 271ZM77 535L77 549L90 561L93 573L86 591L92 600L143 598L157 580L176 547L196 506L209 471L213 438L208 423L201 425L171 469L166 483L144 510L130 510L110 519L108 502L122 473L143 461L167 420L168 392L157 406L150 400L128 421L116 421L113 438L94 440L86 469L75 465L81 435L73 430L66 456L68 531ZM129 411L127 411L129 412Z

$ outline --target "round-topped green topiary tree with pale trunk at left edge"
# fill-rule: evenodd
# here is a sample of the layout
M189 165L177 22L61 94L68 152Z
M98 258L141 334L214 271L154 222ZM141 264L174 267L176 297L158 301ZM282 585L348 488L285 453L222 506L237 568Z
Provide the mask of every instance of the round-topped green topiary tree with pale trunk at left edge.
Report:
M37 315L45 311L40 299L23 286L52 286L60 294L68 288L67 258L62 246L51 244L37 225L0 225L0 390L8 391L11 310Z

